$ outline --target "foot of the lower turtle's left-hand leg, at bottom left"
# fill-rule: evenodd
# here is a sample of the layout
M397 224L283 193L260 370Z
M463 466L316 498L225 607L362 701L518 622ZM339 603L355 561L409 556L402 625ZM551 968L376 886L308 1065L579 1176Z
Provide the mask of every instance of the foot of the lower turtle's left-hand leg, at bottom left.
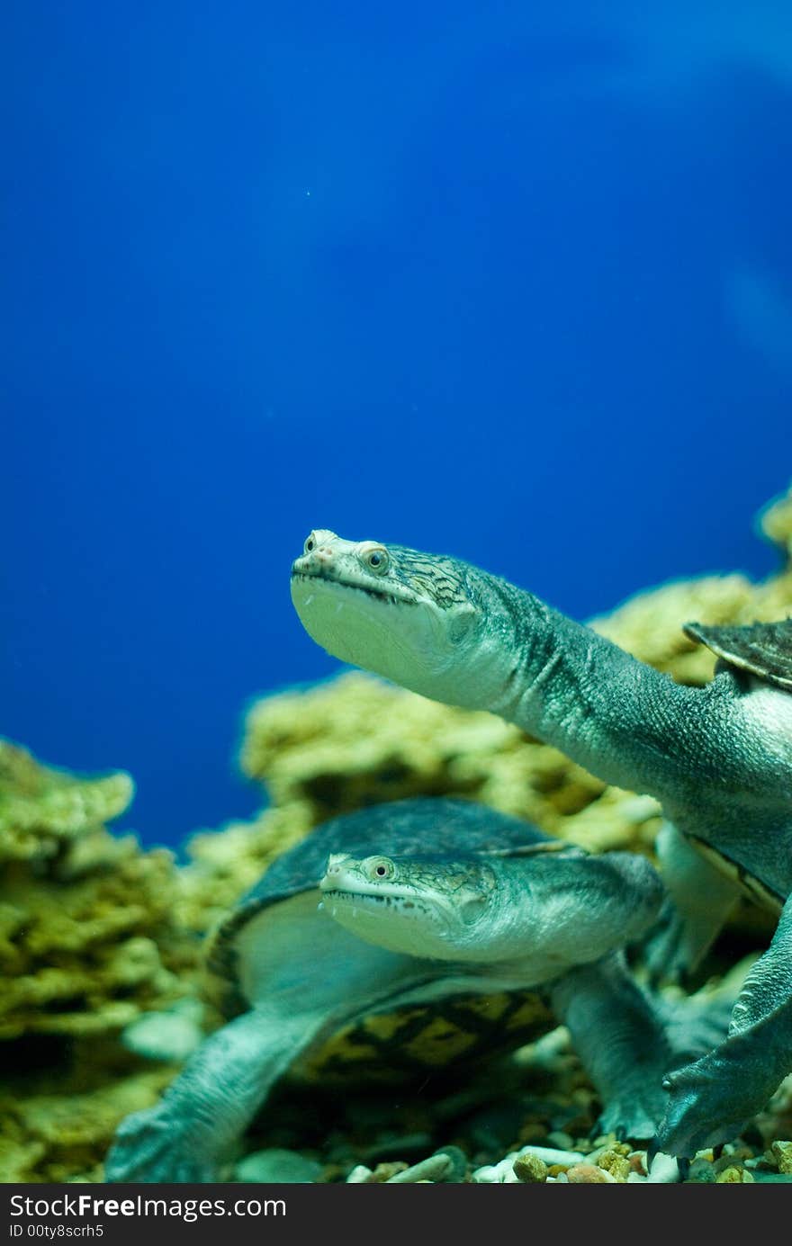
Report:
M105 1159L105 1181L217 1181L213 1156L183 1134L162 1104L135 1111L116 1131Z

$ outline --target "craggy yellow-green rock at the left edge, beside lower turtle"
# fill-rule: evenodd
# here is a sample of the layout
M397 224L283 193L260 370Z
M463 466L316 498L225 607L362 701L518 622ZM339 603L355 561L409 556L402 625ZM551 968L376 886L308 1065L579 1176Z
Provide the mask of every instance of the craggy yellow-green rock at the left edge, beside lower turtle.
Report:
M104 826L132 792L123 773L72 775L0 741L1 1181L91 1179L172 1075L118 1043L191 991L198 961L172 916L173 855Z

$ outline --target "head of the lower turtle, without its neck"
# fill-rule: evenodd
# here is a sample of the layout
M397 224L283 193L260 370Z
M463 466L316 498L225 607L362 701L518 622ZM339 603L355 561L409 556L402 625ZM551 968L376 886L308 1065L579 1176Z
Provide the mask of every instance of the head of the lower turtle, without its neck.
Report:
M322 907L367 943L408 956L478 959L496 893L479 861L354 857L336 852L319 883Z

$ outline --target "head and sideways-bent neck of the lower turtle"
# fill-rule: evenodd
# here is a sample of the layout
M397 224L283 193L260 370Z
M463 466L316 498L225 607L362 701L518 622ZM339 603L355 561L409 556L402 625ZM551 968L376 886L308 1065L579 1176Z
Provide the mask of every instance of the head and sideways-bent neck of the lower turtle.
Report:
M564 841L486 855L329 857L324 912L367 943L440 961L523 963L535 981L640 938L664 896L637 852Z

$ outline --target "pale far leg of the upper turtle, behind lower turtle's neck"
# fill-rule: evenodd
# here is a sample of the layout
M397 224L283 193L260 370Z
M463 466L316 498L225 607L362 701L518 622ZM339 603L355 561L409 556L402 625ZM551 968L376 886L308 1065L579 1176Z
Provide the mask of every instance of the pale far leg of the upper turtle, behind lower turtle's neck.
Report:
M740 898L740 888L665 822L656 841L669 892L642 947L650 982L686 982Z

